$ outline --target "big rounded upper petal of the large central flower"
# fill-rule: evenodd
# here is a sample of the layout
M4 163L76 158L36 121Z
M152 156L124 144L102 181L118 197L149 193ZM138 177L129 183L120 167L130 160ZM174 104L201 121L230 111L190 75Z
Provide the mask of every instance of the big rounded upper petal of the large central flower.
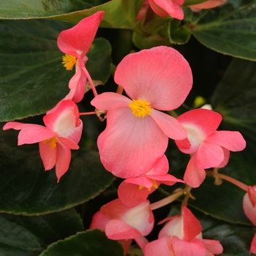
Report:
M192 88L188 62L166 46L125 56L116 67L114 80L131 99L146 99L159 110L178 108Z

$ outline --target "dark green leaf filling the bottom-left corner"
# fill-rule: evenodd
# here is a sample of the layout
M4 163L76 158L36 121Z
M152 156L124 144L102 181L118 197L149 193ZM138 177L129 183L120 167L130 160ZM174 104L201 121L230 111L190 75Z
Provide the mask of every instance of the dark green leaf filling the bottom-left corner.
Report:
M83 231L74 209L37 217L0 214L0 255L37 256L48 244Z

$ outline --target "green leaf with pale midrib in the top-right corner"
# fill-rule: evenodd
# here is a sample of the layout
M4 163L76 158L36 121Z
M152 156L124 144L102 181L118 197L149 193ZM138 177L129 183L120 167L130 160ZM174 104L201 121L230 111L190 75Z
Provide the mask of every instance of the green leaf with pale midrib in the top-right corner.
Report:
M221 7L199 12L189 26L208 48L256 61L255 0L230 0Z

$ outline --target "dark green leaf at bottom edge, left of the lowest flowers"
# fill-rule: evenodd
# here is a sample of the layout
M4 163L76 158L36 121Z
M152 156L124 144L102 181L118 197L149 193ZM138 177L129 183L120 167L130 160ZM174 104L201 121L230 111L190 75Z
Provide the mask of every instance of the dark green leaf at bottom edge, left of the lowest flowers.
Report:
M100 230L88 230L77 233L75 236L66 238L48 246L45 252L39 256L121 256L124 249L118 241L113 241L105 236Z

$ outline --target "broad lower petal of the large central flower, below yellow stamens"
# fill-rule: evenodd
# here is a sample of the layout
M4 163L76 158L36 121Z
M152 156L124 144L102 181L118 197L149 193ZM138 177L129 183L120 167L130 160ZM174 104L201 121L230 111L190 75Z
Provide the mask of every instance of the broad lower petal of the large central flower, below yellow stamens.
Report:
M168 138L151 116L136 117L129 108L108 110L107 128L97 144L106 170L120 178L140 176L154 166Z

